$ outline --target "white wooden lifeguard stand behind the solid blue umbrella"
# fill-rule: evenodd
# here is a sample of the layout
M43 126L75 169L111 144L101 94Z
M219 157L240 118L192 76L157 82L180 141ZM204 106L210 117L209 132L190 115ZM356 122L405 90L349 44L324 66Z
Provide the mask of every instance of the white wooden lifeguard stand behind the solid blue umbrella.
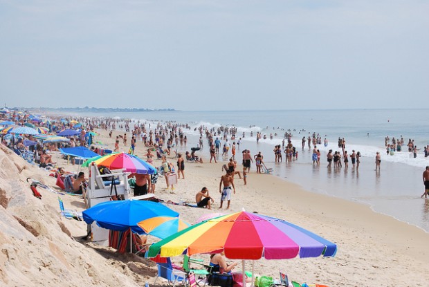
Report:
M129 198L129 185L127 172L122 169L116 169L111 171L112 174L100 174L97 165L89 165L89 182L88 188L86 189L86 195L88 196L88 206L92 207L98 203L110 201L112 195L123 196L123 198ZM116 192L115 187L111 188L111 182L103 181L104 177L115 176L116 180ZM119 181L119 183L118 183ZM109 230L100 228L97 223L93 222L88 225L88 232L91 231L91 241L98 243L102 246L107 246L109 242Z

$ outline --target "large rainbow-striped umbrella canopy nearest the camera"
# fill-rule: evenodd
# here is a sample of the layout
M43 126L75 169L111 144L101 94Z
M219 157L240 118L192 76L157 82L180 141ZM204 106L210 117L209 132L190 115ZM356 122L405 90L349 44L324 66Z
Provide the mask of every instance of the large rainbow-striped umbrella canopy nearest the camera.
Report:
M245 234L245 236L244 236ZM225 252L229 259L334 256L337 246L282 219L236 212L209 219L152 244L148 257Z

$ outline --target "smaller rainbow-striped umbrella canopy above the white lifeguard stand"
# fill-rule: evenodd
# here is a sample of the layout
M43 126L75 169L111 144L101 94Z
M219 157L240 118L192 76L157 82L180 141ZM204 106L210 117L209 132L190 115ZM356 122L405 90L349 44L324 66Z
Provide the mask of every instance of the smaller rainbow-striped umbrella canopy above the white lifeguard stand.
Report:
M156 172L156 168L149 165L145 160L131 154L125 154L125 152L103 156L94 160L93 163L109 169L125 169L127 172L136 174L154 174Z

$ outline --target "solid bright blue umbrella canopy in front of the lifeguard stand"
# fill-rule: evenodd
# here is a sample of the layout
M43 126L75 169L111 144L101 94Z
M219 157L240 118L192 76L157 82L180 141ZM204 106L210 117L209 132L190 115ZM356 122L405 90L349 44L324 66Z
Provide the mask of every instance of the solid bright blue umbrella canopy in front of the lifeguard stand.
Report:
M82 212L88 224L96 221L101 228L125 231L129 228L138 234L144 231L137 225L140 221L156 216L178 217L179 213L153 201L106 201Z

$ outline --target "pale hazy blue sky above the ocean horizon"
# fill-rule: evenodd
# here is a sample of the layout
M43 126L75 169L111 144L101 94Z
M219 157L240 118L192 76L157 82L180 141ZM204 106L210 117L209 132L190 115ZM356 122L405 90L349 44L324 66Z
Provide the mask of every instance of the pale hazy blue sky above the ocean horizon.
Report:
M429 1L0 0L0 107L428 107Z

